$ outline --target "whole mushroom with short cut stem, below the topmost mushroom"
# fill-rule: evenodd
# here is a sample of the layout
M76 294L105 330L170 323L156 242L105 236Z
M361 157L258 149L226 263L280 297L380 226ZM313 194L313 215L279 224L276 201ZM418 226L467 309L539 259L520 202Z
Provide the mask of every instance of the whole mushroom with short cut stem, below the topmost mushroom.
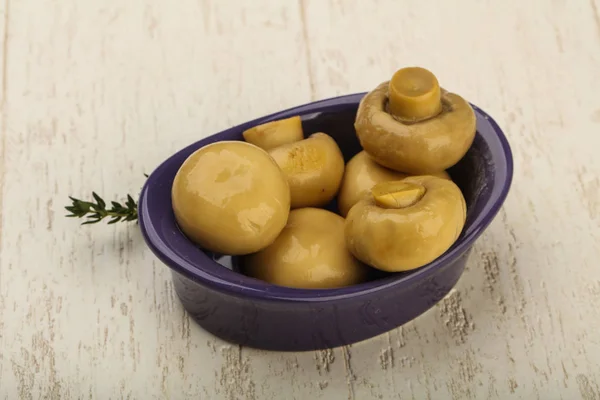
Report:
M435 176L382 182L350 209L346 245L367 265L408 271L438 258L458 239L466 219L456 184Z

